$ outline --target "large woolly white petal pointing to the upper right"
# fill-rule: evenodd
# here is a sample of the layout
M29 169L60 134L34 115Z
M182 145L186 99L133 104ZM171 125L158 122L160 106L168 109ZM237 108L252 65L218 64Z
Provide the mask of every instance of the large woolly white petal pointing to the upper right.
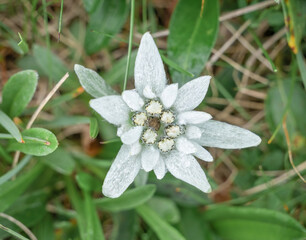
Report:
M183 85L178 90L174 108L179 112L195 109L206 95L210 78L202 76Z

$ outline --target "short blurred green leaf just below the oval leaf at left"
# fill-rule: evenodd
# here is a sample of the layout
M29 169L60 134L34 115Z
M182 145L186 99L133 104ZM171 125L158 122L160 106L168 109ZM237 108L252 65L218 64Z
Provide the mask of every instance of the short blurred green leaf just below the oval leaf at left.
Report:
M70 175L75 168L73 158L63 148L56 149L56 151L44 156L41 160L55 171L64 175Z

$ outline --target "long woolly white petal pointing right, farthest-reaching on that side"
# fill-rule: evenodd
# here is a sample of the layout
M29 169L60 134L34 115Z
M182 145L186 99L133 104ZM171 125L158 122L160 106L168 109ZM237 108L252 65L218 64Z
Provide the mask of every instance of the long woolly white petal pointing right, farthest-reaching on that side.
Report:
M202 146L224 149L240 149L260 144L261 139L249 130L224 122L209 120L198 127L202 136L196 141Z

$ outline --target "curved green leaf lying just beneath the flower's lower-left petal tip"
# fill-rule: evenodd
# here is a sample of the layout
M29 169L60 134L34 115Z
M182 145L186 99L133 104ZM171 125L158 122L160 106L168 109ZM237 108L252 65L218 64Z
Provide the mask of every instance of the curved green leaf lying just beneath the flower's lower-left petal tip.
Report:
M101 198L95 200L98 208L105 211L118 212L133 209L148 201L156 190L155 185L134 188L123 193L118 198Z

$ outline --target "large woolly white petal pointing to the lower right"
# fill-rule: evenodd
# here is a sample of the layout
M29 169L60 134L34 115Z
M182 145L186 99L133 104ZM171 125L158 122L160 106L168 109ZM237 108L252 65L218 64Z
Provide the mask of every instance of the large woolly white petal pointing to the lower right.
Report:
M192 155L172 151L165 158L168 171L176 178L189 183L203 192L210 192L211 187L200 164Z

